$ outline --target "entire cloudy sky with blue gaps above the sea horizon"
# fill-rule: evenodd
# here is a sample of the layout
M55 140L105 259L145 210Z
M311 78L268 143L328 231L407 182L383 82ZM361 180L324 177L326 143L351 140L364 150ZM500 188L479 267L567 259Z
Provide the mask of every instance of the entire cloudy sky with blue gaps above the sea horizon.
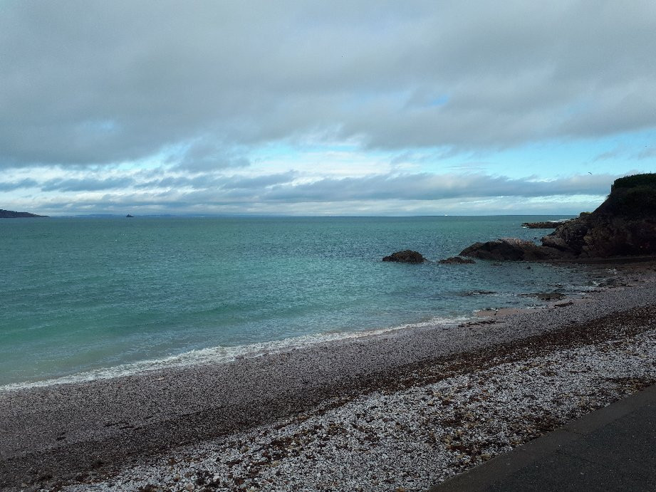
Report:
M0 208L578 214L656 171L656 2L0 0Z

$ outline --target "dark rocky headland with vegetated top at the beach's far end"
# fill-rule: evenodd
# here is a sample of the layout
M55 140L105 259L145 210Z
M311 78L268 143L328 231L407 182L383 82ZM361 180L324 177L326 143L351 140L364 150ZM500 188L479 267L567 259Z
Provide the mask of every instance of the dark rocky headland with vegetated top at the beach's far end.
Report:
M616 179L595 211L556 224L541 245L516 238L475 243L459 256L487 260L585 260L656 255L656 174Z

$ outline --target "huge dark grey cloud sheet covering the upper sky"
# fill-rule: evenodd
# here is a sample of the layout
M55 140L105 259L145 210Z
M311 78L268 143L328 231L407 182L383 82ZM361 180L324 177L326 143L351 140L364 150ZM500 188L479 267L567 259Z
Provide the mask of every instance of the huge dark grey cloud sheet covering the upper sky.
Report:
M205 172L303 135L457 151L654 128L655 30L646 0L6 1L0 166L201 142L179 165Z

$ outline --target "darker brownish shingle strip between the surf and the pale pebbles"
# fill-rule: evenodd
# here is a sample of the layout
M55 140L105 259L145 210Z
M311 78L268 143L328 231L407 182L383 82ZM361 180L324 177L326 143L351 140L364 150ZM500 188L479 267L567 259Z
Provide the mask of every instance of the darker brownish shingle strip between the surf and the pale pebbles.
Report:
M375 392L437 384L494 364L495 357L516 358L511 353L517 350L526 355L533 349L522 341L531 337L537 337L534 344L561 348L589 342L597 336L590 330L579 330L580 339L563 334L595 325L593 320L612 325L612 313L644 328L656 305L653 273L640 265L623 276L627 286L590 293L589 302L511 313L494 323L397 330L220 365L2 393L0 486L37 490L85 483L86 490L88 482L185 446L229 440L326 406L339 409ZM640 335L646 329L636 330ZM565 345L548 342L550 333L560 334ZM598 342L612 335L610 330ZM543 355L538 352L535 357Z

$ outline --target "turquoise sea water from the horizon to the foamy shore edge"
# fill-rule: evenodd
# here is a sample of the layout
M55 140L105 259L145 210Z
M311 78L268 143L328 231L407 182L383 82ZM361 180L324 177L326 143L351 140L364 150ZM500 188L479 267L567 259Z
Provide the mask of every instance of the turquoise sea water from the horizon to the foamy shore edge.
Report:
M533 239L547 231L520 224L536 219L545 218L4 219L0 385L220 359L592 286L580 267L380 261L405 248L437 261L474 241Z

